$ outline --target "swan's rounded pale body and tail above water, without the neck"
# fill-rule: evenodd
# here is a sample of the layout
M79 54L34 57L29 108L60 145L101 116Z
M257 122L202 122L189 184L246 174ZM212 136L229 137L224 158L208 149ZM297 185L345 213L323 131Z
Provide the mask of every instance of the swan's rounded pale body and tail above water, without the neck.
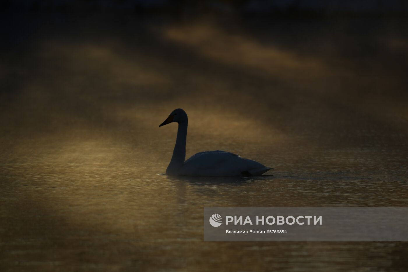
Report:
M271 168L222 150L199 152L184 162L180 175L242 176L262 175Z

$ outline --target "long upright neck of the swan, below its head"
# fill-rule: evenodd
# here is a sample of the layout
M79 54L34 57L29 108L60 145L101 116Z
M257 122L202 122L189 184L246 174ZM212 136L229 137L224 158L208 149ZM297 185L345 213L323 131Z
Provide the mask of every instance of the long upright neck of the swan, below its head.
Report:
M166 174L177 175L184 164L184 159L186 158L187 125L188 120L179 123L176 145L173 150L170 164L167 167Z

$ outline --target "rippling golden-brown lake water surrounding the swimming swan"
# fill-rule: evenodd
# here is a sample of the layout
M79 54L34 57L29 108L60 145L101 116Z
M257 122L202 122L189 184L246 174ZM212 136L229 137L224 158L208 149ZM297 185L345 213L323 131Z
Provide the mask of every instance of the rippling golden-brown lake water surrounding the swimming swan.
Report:
M406 22L237 32L55 18L17 25L0 53L4 267L407 267L406 243L204 243L202 218L204 207L407 206ZM176 136L174 124L158 125L177 107L189 116L187 156L223 149L275 170L157 175Z

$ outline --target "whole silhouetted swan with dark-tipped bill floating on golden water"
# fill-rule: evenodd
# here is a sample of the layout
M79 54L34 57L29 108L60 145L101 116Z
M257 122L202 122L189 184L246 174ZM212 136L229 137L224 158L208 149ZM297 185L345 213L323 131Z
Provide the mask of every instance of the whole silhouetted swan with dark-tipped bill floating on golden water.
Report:
M177 139L173 156L166 169L167 175L260 176L272 169L256 161L222 150L199 152L184 161L188 125L186 112L183 109L175 109L159 127L173 122L178 123Z

